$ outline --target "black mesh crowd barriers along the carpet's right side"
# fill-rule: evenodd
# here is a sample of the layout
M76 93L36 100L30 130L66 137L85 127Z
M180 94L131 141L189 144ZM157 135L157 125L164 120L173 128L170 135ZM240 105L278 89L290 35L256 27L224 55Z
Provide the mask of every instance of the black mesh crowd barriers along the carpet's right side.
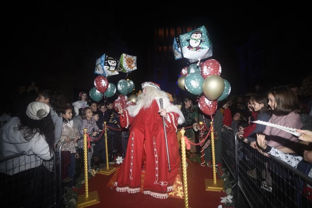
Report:
M222 159L250 207L312 207L308 175L277 157L265 157L232 129L222 128L222 142Z

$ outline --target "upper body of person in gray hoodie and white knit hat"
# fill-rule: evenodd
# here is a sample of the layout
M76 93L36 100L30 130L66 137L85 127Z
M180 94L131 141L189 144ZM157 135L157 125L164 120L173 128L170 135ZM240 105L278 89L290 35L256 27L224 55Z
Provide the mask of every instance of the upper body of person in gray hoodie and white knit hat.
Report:
M38 167L54 153L54 125L47 104L34 101L21 118L13 117L4 127L0 141L0 157L25 153L17 159L1 163L0 172L13 175ZM42 160L41 160L42 159Z

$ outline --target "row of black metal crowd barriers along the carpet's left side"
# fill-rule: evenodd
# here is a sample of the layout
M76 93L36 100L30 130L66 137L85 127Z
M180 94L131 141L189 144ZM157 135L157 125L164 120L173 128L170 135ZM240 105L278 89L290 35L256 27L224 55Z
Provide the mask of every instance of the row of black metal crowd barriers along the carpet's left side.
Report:
M124 157L129 130L107 130L109 162ZM106 166L105 139L92 142L88 150L88 169ZM57 147L51 161L34 160L25 164L25 154L0 159L0 207L57 207L66 192L83 178L83 149L75 153L61 151L65 141ZM61 152L61 154L60 154ZM75 163L73 165L73 163ZM66 167L65 167L66 164ZM12 168L14 167L14 168ZM29 168L29 169L28 169ZM27 169L27 170L25 170ZM70 178L62 178L66 172Z

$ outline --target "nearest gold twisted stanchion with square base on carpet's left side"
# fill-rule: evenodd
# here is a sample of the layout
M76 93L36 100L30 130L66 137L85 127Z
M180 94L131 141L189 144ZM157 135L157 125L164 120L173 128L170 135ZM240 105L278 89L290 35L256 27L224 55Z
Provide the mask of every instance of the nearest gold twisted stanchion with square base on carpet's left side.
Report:
M78 196L77 207L87 207L100 203L97 191L89 193L89 176L88 176L88 143L87 143L87 129L83 130L83 160L84 160L84 174L85 174L85 194Z

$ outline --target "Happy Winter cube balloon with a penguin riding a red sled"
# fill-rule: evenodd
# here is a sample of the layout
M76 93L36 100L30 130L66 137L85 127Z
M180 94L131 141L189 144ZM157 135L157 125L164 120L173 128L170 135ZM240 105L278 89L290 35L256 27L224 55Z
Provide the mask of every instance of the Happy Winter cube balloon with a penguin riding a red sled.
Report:
M212 56L212 41L205 26L180 35L182 54L190 62Z

